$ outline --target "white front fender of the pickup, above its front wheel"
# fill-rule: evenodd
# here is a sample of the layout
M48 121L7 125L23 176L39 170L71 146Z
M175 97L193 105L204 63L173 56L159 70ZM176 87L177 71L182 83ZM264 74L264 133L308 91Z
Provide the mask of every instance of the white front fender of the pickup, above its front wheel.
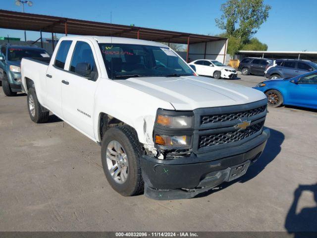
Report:
M95 94L94 134L97 141L99 136L99 118L106 113L133 127L139 141L143 144L154 145L153 128L159 108L175 110L166 101L158 99L145 92L121 84L120 80L101 78Z

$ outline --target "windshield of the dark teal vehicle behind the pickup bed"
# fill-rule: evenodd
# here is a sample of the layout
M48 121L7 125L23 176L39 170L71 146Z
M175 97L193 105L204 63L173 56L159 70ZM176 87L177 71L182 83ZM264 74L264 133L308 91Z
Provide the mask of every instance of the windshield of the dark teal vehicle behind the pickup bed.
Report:
M43 49L23 49L23 48L9 48L8 49L8 60L20 61L24 57L45 58L45 57L50 57L50 55Z

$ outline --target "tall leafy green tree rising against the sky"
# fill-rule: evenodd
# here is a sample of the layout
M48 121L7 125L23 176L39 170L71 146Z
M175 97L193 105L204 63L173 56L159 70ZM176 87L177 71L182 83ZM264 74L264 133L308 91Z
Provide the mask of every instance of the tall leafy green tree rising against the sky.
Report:
M240 38L246 44L267 20L270 9L263 0L227 0L221 4L223 13L215 19L216 25L229 37Z

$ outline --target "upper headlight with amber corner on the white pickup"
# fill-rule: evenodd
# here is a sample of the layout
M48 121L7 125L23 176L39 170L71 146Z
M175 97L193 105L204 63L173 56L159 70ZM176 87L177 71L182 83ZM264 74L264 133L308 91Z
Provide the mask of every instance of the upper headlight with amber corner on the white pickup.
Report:
M168 116L158 115L157 124L166 126L169 128L192 128L193 117L192 116Z

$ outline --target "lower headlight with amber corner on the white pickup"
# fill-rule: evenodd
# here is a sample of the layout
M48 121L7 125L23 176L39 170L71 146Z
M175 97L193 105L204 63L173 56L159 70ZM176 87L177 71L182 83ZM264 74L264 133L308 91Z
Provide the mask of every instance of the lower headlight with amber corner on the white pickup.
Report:
M155 143L171 148L186 148L191 144L191 136L188 135L155 135Z

